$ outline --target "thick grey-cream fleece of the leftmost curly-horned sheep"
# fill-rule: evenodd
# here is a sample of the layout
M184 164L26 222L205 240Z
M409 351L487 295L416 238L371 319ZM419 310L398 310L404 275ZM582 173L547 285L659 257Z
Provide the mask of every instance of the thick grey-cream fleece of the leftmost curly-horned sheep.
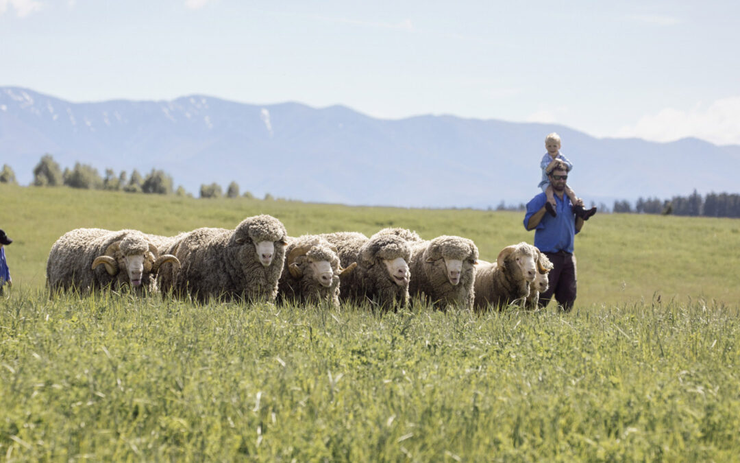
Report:
M118 252L113 259L118 262L118 275L108 274L104 265L92 270L92 262L104 256L107 248L119 242ZM47 287L52 292L76 288L83 293L93 289L112 287L118 289L129 284L129 276L124 264L124 255L144 254L151 270L152 256L148 256L149 242L146 235L138 230L110 231L100 228L78 228L64 233L51 247L47 259ZM141 286L137 292L155 290L155 281L144 267Z

